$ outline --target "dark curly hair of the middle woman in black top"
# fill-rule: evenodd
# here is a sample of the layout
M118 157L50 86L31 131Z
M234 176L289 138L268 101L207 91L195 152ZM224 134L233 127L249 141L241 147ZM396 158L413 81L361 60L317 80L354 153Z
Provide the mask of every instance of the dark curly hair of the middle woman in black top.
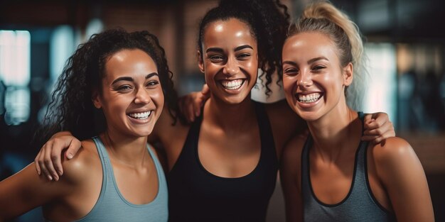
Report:
M227 21L237 18L244 21L257 40L259 66L266 74L266 94L269 96L269 84L272 74L277 72L282 78L282 46L289 27L287 7L279 0L221 0L219 5L210 9L200 21L198 50L203 59L204 29L214 21Z

